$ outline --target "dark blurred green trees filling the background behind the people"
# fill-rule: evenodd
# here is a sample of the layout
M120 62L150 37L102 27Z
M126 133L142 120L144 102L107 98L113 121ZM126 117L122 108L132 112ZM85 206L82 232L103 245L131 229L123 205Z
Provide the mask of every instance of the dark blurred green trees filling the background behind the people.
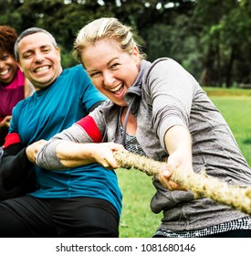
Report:
M250 0L0 0L0 24L47 29L64 67L76 64L78 30L101 16L130 25L149 60L176 59L203 86L251 83Z

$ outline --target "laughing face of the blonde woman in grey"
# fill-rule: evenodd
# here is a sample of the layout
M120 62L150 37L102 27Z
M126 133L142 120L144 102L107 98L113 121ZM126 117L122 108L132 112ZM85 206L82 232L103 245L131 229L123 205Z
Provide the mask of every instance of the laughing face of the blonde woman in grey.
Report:
M95 87L110 101L125 106L125 92L136 80L140 69L138 48L131 54L120 48L114 40L100 40L89 45L81 56Z

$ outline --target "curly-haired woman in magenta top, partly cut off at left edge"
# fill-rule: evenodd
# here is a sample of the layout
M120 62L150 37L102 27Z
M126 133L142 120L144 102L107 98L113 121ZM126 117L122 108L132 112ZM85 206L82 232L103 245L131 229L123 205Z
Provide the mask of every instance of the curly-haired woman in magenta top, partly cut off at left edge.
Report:
M26 79L17 65L14 53L16 38L15 28L0 26L0 163L12 110L18 101L25 99L34 91L30 81ZM0 201L22 195L33 189L34 181L32 182L29 178L32 176L27 177L22 184L8 191L2 186L0 180Z

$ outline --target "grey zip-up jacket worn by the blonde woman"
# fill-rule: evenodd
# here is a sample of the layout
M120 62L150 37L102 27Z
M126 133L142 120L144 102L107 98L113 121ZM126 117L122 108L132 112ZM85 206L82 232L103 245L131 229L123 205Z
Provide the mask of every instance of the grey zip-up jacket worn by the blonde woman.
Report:
M193 76L176 61L167 58L153 63L141 60L139 76L124 99L136 116L135 136L145 155L158 161L167 158L164 135L173 125L183 125L192 136L195 173L205 168L208 176L229 185L251 185L250 167L225 119ZM104 142L121 144L119 112L120 106L106 101L89 114ZM47 169L63 167L55 152L62 139L93 142L89 134L75 123L43 147L37 155L38 165ZM190 191L169 191L156 179L153 179L153 185L157 191L152 197L151 208L154 213L163 212L161 229L204 229L246 216L206 197L194 199Z

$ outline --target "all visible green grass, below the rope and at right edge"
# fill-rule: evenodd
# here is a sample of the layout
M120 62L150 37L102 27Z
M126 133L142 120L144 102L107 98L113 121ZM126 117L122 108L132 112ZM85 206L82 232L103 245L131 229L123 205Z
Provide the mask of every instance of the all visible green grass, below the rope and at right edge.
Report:
M251 165L251 90L206 89L229 123L237 144ZM123 194L121 238L149 238L162 219L153 214L150 202L155 193L152 178L135 170L116 170Z

